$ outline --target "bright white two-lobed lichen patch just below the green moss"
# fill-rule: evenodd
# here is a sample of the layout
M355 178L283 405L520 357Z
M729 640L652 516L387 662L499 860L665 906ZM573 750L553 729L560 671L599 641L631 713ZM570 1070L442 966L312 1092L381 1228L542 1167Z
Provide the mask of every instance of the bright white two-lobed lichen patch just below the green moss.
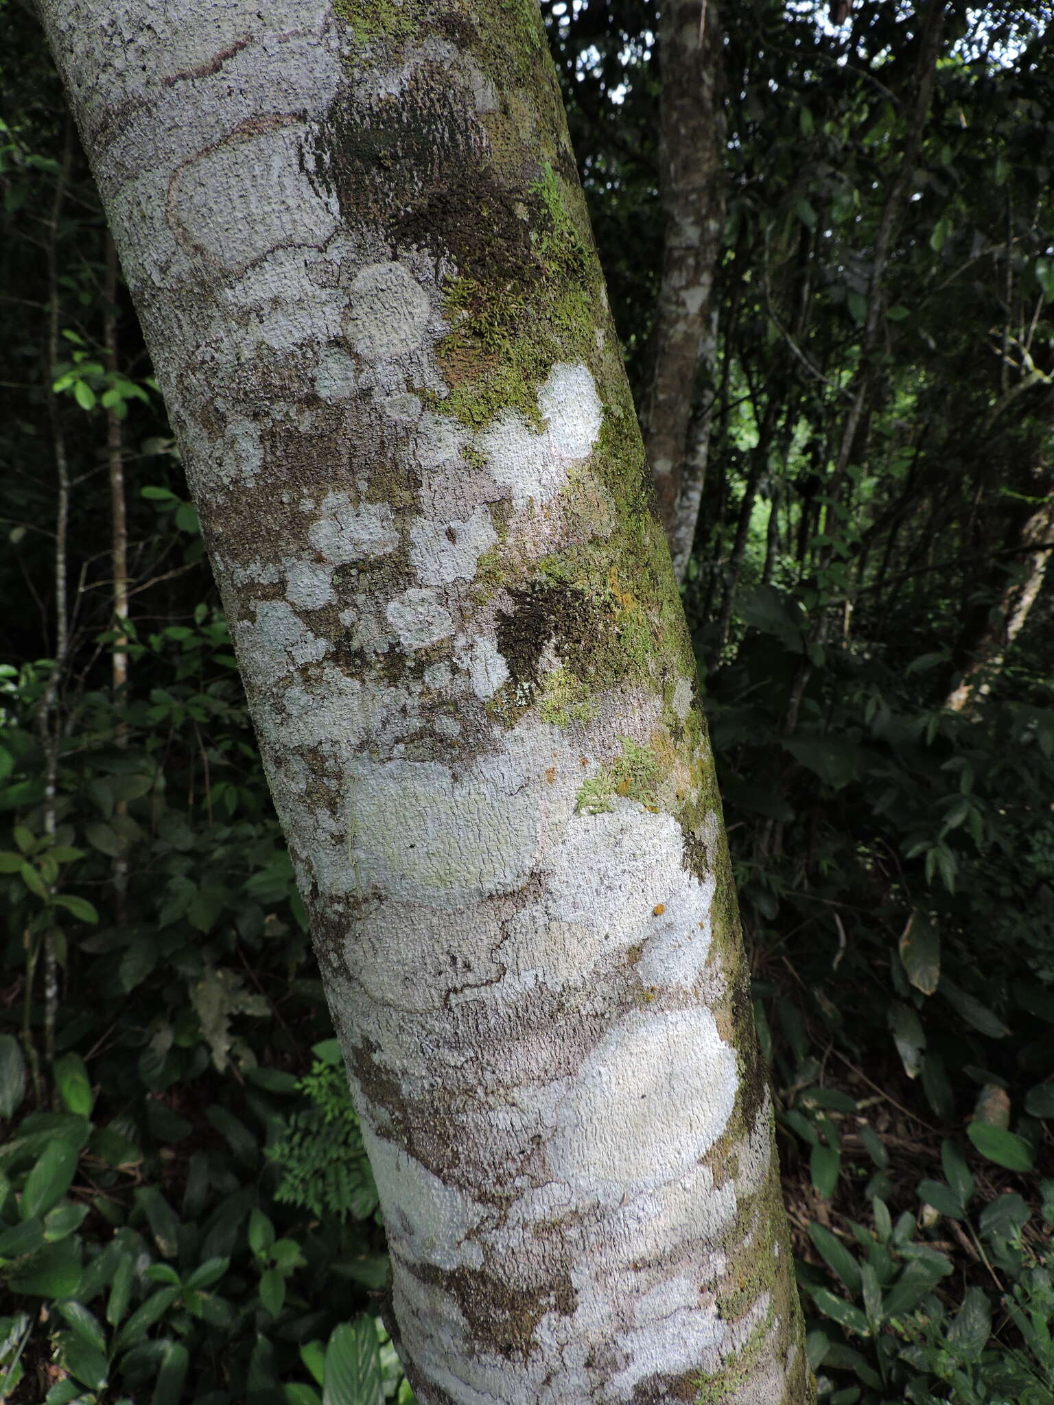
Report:
M538 391L544 430L503 410L476 434L476 450L513 506L547 503L566 486L568 469L587 458L600 436L603 405L587 367L558 364Z

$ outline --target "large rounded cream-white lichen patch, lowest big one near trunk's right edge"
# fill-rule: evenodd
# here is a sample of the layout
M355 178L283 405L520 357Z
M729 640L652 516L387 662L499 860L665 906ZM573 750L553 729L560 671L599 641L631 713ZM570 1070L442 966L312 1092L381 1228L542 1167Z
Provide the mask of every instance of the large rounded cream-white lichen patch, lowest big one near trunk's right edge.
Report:
M684 1175L728 1125L736 1087L708 1010L632 1012L582 1065L548 1146L552 1173L620 1186Z

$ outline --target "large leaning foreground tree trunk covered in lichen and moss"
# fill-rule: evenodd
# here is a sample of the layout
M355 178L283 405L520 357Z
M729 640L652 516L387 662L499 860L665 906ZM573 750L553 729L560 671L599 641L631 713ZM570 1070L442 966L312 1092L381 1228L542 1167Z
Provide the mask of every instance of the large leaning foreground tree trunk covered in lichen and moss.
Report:
M808 1399L694 659L537 4L41 8L422 1405Z

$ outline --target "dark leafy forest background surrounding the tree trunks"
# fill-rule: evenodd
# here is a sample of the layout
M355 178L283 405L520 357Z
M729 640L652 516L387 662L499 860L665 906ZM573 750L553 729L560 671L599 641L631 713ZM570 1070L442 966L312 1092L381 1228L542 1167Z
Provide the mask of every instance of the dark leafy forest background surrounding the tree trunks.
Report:
M542 8L639 395L655 8ZM920 121L915 3L720 15L684 604L829 1405L1054 1402L1051 13L944 8ZM0 1398L405 1405L178 452L14 0L0 93Z

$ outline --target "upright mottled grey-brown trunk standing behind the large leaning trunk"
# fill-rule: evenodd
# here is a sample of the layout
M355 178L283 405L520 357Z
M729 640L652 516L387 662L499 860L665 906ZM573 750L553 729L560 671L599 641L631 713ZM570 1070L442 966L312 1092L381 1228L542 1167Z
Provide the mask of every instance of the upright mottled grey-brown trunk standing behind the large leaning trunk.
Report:
M721 20L715 0L669 0L659 10L661 192L665 251L644 441L677 579L696 537L717 368L713 287L725 223ZM707 400L693 420L696 375Z

